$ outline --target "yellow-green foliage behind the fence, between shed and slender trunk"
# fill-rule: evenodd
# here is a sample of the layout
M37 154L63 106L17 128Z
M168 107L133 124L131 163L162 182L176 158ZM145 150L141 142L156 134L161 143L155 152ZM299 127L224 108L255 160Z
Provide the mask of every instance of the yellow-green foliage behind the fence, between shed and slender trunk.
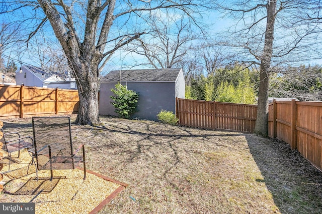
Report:
M241 66L226 66L213 74L190 80L186 86L186 98L231 103L256 103L256 73Z

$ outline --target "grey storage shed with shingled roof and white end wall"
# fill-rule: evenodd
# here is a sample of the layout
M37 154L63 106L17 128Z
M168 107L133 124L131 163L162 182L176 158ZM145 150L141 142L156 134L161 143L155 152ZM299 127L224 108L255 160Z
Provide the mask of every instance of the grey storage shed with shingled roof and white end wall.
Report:
M133 118L156 121L161 110L175 113L176 97L185 98L185 78L180 68L111 71L101 80L101 115L117 115L110 96L118 82L139 94Z

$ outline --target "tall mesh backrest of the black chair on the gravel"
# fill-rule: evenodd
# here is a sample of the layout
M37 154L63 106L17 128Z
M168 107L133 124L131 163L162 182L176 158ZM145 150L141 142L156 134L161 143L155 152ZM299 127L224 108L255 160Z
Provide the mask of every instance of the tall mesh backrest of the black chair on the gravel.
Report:
M70 117L32 117L32 129L36 157L38 150L47 145L64 148L55 155L72 155Z

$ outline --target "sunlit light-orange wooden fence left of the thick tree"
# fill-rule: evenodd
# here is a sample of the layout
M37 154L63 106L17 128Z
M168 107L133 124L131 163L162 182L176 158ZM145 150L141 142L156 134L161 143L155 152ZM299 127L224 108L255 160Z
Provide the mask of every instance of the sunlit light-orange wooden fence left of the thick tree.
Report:
M0 119L76 113L78 106L77 90L0 86Z

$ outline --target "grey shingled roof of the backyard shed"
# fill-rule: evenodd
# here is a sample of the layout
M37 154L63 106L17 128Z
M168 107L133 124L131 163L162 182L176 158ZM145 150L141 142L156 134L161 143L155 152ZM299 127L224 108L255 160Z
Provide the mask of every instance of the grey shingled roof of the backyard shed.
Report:
M116 70L108 73L101 82L176 82L180 71L180 68Z

